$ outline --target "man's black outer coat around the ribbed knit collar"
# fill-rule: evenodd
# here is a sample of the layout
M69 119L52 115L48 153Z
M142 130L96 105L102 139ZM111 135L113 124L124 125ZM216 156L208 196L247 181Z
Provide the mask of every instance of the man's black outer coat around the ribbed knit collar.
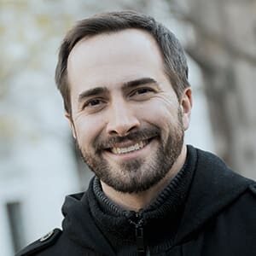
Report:
M196 154L195 175L172 246L148 255L256 255L256 183L230 171L215 155L189 147ZM56 229L16 256L137 255L114 253L82 198L82 193L71 195L65 202L67 208L77 207L72 231Z

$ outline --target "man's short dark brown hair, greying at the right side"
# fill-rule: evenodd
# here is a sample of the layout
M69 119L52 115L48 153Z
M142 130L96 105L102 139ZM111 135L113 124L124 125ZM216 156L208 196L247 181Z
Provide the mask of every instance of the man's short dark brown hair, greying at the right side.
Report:
M67 78L67 59L74 45L82 38L90 38L102 33L119 32L136 28L153 36L160 48L164 61L165 72L170 79L177 98L183 93L188 82L188 65L183 47L175 35L153 17L135 11L117 11L94 15L88 19L79 20L63 39L59 51L59 59L55 69L55 83L61 91L64 108L72 114L70 89Z

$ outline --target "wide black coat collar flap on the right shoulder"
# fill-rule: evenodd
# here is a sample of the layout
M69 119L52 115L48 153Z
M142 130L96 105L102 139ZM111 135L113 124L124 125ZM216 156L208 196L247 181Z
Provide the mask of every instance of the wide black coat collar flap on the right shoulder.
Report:
M175 244L199 230L253 183L231 171L216 155L189 147L197 151L197 163Z

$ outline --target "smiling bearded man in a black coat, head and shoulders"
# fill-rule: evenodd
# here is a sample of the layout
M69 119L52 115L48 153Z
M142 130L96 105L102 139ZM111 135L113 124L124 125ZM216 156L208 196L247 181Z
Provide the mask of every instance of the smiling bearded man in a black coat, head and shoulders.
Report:
M62 230L17 255L256 255L256 185L183 141L192 94L177 38L130 11L81 20L55 73L95 173Z

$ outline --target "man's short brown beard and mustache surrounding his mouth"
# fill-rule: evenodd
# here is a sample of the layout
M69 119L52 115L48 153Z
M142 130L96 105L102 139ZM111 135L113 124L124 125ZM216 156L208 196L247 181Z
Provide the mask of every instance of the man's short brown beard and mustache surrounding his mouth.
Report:
M85 164L102 182L119 192L138 193L151 188L166 177L181 154L183 137L182 114L178 109L177 123L169 124L169 132L166 137L159 127L150 125L139 131L131 131L125 137L97 137L93 143L94 154L86 151L78 142L77 145ZM104 158L103 154L106 148L113 148L115 143L128 140L134 142L148 140L148 143L155 143L156 140L158 146L153 154L143 159L114 163Z

